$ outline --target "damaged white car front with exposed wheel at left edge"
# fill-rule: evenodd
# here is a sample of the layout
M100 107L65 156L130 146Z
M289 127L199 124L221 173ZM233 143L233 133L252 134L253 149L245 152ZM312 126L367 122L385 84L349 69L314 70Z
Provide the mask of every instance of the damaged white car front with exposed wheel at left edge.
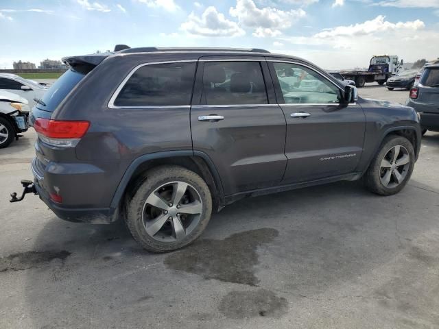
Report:
M0 149L8 147L27 130L29 112L27 99L0 90Z

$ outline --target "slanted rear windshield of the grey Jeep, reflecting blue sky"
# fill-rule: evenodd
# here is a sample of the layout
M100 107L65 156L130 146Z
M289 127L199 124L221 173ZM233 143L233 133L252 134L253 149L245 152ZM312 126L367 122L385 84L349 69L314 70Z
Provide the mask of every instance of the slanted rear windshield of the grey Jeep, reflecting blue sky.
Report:
M69 69L63 75L61 75L58 80L52 86L47 89L41 99L46 106L41 103L36 103L36 107L41 110L54 112L56 107L61 103L61 101L71 92L73 88L85 77L86 72L73 71Z

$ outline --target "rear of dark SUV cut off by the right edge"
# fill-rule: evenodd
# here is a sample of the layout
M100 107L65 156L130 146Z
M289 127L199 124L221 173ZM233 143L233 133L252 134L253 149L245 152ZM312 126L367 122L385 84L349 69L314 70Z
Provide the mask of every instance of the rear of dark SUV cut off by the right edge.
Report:
M439 132L439 64L425 67L418 86L410 89L407 105L420 114L423 133Z

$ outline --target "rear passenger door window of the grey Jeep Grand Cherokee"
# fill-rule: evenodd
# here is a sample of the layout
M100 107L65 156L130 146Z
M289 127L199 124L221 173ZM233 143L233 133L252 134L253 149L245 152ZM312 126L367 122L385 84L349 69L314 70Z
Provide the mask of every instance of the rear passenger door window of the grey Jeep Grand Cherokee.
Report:
M203 73L206 105L267 104L259 62L206 62Z

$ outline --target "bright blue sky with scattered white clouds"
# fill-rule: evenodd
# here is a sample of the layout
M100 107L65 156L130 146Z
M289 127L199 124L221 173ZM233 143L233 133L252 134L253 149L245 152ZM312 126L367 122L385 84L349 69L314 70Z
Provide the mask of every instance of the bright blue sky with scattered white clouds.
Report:
M325 69L439 57L439 0L1 0L0 67L130 47L255 47Z

